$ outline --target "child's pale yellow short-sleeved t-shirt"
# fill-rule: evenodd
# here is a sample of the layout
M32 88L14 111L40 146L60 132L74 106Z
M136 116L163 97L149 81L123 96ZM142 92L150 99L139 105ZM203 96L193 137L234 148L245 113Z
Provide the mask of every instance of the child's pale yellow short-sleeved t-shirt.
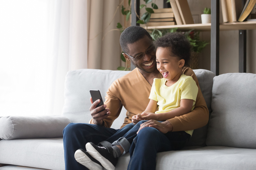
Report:
M155 113L165 113L180 107L181 99L194 100L191 111L194 109L198 87L191 76L182 74L179 80L170 87L165 83L165 78L154 78L149 99L157 101L158 111ZM192 136L193 130L185 132Z

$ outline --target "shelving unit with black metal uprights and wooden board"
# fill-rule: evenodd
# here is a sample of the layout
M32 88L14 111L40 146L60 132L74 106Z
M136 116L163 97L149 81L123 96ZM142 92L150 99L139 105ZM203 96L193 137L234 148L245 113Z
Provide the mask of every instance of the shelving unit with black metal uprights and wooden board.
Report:
M139 14L139 0L132 0L136 12ZM166 0L163 0L164 2ZM242 0L244 4L245 0ZM139 19L136 17L134 8L132 8L132 25L136 24ZM220 23L220 1L211 0L211 23L208 24L187 24L187 25L170 25L170 26L150 26L145 29L170 29L178 27L179 30L211 31L211 71L219 75L219 46L220 31L239 30L239 73L246 73L246 30L256 29L256 21ZM131 69L135 67L132 65Z

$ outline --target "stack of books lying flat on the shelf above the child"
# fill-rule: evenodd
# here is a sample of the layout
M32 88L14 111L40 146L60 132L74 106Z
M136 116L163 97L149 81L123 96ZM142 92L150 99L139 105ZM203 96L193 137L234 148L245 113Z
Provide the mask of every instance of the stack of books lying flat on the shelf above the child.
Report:
M162 8L154 9L154 13L151 14L150 20L147 26L165 26L165 25L176 25L173 9Z

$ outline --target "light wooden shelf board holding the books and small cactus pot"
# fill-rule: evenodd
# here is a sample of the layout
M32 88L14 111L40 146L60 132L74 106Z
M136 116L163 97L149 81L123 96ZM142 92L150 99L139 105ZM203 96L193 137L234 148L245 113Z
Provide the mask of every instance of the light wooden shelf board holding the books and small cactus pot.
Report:
M187 25L167 25L167 26L148 26L144 27L147 30L150 29L171 29L178 28L179 30L191 30L197 31L210 31L211 23L208 24L187 24ZM236 23L220 23L220 31L225 30L254 30L256 29L256 21L236 22Z

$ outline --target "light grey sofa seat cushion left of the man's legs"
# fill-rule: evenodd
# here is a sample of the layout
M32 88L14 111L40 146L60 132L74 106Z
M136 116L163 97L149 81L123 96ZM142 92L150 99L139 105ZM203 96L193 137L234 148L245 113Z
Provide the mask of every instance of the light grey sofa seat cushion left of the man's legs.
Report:
M63 138L1 140L0 163L64 170Z

